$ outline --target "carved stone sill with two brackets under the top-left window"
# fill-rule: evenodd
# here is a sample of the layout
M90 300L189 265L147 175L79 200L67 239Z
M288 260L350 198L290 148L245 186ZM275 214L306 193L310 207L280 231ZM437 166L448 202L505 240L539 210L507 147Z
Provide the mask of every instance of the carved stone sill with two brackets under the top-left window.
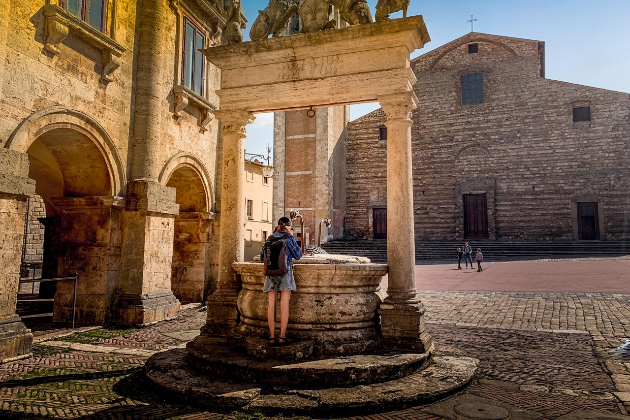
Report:
M59 44L66 39L68 33L72 32L88 44L101 50L103 58L101 82L107 84L113 80L112 73L120 67L118 57L127 51L123 45L71 15L57 4L43 6L42 13L46 19L46 35L43 46L45 50L50 54L59 55Z

